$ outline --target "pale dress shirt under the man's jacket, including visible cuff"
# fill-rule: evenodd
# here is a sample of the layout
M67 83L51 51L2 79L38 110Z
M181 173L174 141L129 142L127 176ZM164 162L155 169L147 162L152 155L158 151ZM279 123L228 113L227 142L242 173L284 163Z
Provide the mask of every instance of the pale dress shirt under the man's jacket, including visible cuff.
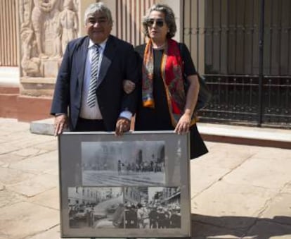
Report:
M104 42L99 44L99 61L98 61L98 75L100 73L100 67L101 67L101 62L103 59L103 52L106 47L106 42L107 39L105 39ZM84 82L83 82L83 91L82 91L82 102L81 102L81 109L80 109L80 114L79 116L81 118L86 118L86 119L102 119L102 114L99 109L98 105L98 99L96 97L96 104L93 107L89 107L86 102L87 102L87 97L88 97L88 92L89 92L89 85L90 85L90 80L91 80L91 61L92 61L92 54L93 51L96 51L93 47L94 43L91 41L89 42L88 46L88 53L86 56L86 66L85 66L85 72L84 72ZM109 92L108 92L109 93ZM119 115L120 117L128 118L129 120L131 119L131 112L130 111L122 111L122 113Z

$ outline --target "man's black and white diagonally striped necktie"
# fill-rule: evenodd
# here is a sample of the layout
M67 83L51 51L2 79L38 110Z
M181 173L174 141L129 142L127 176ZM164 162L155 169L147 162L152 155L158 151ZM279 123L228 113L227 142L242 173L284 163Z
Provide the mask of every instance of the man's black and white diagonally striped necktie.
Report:
M94 44L91 61L91 79L89 85L89 92L87 97L87 105L91 108L96 104L96 89L97 89L97 75L98 75L98 61L99 61L99 45Z

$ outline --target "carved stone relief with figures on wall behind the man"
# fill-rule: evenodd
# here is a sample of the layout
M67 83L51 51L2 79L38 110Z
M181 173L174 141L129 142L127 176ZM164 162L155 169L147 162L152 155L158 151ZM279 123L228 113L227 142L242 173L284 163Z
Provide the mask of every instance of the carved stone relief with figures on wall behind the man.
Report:
M21 75L55 78L67 42L78 35L79 0L20 0Z

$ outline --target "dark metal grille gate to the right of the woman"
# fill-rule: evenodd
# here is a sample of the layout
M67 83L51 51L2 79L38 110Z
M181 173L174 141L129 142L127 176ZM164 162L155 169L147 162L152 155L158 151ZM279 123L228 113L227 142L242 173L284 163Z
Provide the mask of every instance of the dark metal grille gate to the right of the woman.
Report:
M201 121L291 128L290 12L290 0L205 0Z

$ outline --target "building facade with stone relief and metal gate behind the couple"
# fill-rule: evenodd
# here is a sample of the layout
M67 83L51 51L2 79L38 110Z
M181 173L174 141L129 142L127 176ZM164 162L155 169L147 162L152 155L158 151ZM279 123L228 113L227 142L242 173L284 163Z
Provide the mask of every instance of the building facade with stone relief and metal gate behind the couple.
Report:
M0 2L1 117L48 118L63 49L84 35L84 9L91 2ZM112 11L112 34L134 45L145 42L141 18L151 5L174 9L175 39L186 43L213 95L200 121L291 128L289 0L103 2Z

